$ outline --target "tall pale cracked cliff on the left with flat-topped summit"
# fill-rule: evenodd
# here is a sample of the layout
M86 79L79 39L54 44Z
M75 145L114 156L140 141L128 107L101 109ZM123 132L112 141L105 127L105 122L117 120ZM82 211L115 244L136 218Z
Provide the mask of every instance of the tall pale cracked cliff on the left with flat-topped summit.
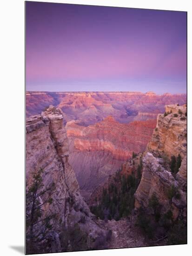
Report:
M44 170L45 187L52 182L56 184L53 204L45 209L60 215L60 219L53 223L53 231L50 233L52 245L49 252L60 251L58 234L61 229L67 229L75 223L79 223L80 229L88 233L90 243L101 234L106 234L106 230L94 221L93 214L79 193L79 185L73 168L68 163L68 156L66 129L60 109L50 106L41 115L26 119L26 186L30 186L33 173L40 168ZM84 221L81 222L81 219Z

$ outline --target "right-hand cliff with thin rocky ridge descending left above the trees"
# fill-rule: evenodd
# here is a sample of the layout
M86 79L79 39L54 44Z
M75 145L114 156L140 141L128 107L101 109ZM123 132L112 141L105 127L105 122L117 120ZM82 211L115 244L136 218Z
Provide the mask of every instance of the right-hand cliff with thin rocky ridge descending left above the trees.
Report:
M153 193L166 207L166 203L169 204L167 190L174 186L179 189L181 196L176 207L186 210L186 105L166 105L165 113L166 115L158 115L156 128L153 129L146 149L133 155L122 164L118 172L110 175L102 186L94 189L89 198L91 205L94 204L94 198L101 197L103 188L107 188L117 175L134 174L137 177L137 168L142 162L141 181L134 194L135 208L147 207ZM170 167L173 156L180 156L177 173ZM176 204L176 201L173 202Z

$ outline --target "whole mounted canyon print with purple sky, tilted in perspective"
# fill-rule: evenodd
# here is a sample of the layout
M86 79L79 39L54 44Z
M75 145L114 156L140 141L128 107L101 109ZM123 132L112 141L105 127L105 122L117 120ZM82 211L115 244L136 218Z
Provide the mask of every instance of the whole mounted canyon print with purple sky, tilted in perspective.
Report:
M25 5L26 254L186 244L187 13Z

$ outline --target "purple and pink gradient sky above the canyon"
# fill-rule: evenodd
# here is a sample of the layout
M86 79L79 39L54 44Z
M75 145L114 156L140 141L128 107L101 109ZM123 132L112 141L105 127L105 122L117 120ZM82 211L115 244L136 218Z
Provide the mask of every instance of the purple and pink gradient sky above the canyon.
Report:
M26 90L186 92L186 13L26 2Z

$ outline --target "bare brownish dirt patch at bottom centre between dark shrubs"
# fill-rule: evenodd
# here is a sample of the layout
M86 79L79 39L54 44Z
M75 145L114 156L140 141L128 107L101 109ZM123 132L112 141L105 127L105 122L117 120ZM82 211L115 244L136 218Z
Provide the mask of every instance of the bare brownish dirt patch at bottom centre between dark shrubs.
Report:
M108 221L106 226L112 230L111 241L107 248L130 248L147 246L147 242L140 229L135 227L134 218L119 221Z

